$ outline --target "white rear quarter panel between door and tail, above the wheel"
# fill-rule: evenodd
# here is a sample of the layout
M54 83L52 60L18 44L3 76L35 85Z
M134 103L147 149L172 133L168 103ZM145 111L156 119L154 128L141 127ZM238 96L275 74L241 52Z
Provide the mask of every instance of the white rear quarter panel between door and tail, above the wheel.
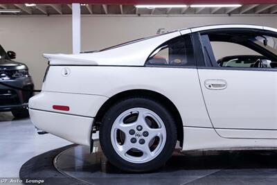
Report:
M68 68L69 76L61 71ZM197 69L166 67L51 66L43 91L112 97L122 91L156 91L175 104L184 126L212 127L199 86ZM89 98L89 96L88 96ZM78 100L76 100L78 103ZM87 101L89 103L89 100ZM100 107L91 106L90 116Z

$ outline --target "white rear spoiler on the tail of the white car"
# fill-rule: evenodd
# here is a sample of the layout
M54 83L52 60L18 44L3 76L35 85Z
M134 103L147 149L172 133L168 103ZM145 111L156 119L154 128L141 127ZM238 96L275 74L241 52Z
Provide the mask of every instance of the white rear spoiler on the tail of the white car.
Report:
M44 54L44 58L49 61L50 65L98 65L96 61L82 57L82 54Z

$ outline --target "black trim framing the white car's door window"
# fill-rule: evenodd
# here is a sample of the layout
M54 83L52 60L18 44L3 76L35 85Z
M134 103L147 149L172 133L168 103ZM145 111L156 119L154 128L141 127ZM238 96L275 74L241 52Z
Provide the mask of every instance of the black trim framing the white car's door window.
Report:
M206 61L206 58L204 57L204 44L202 43L202 37L201 35L203 34L208 34L208 33L213 33L213 32L219 32L220 30L235 30L235 31L240 31L240 30L247 30L247 31L251 31L251 32L260 32L263 33L265 35L271 35L274 37L277 37L277 33L273 32L273 31L269 31L269 30L260 30L260 29L256 29L256 28L218 28L218 29L213 29L213 30L202 30L198 33L199 37L199 43L201 44L202 47L202 56L203 56L203 61L201 62L201 64L197 64L197 69L211 69L211 70L231 70L231 71L277 71L277 69L275 68L250 68L250 67L219 67L218 65L215 66L214 62L212 62L211 66L208 66L208 61ZM210 55L210 53L207 53L208 55ZM214 55L214 53L213 53ZM211 56L210 56L211 58Z

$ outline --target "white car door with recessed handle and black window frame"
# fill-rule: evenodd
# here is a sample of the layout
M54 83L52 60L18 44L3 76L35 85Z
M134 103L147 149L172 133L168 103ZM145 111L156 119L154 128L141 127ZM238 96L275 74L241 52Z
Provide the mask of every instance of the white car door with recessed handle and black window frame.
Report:
M205 58L204 66L198 67L199 82L211 123L220 136L277 139L277 39L275 33L261 32L232 29L199 35ZM213 42L223 43L217 43L217 53ZM240 67L221 67L216 62L219 56L238 53L274 61L237 64Z

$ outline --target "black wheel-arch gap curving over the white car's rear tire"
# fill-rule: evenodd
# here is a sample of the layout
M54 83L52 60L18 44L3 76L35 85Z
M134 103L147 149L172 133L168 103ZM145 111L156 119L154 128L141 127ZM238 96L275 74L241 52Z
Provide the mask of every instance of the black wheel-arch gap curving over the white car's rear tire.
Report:
M114 105L114 103L117 103L122 99L137 97L137 96L143 96L145 98L157 100L159 103L164 105L166 109L168 109L168 111L175 118L175 123L177 125L177 139L180 142L180 146L183 146L184 129L183 129L183 121L181 119L181 115L179 114L179 110L169 98L167 98L163 94L158 93L157 91L151 91L147 89L132 89L127 91L121 91L118 94L111 96L111 98L109 98L98 110L96 117L94 119L93 127L96 128L96 130L98 130L99 125L101 124L102 118L105 115L105 112L107 112L107 110L111 105Z

